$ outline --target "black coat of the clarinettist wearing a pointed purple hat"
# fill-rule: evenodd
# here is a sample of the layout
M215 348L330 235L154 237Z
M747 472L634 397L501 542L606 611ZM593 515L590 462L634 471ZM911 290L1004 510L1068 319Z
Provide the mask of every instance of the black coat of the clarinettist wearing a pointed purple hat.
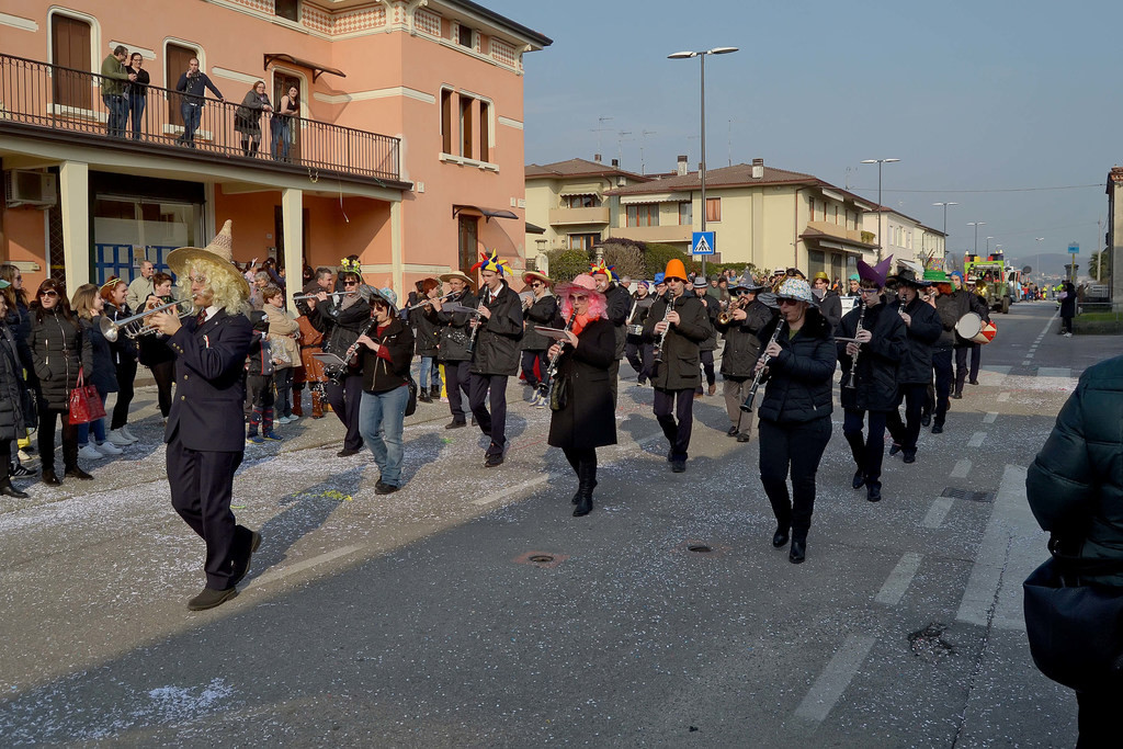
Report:
M860 307L847 312L839 322L837 335L853 338L860 314ZM866 309L861 327L874 337L868 344L861 345L855 387L846 386L850 382L851 356L846 353L846 344L837 344L839 363L842 365L839 401L843 409L891 411L897 403L897 367L909 349L905 323L895 307L882 302Z

